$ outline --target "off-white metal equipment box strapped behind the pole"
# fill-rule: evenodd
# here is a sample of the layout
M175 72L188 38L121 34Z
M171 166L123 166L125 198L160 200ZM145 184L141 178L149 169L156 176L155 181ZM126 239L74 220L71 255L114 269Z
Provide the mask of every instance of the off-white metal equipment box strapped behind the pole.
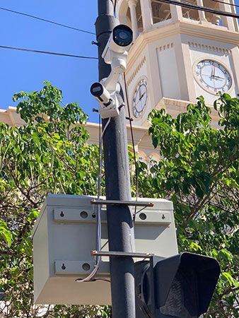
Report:
M110 264L100 263L96 280L76 282L93 270L96 241L93 196L49 195L33 228L34 296L37 304L107 305L111 303ZM136 252L162 257L177 254L173 203L153 202L136 214ZM138 208L139 210L140 208ZM102 246L107 251L106 208L101 208ZM139 260L139 259L137 259Z

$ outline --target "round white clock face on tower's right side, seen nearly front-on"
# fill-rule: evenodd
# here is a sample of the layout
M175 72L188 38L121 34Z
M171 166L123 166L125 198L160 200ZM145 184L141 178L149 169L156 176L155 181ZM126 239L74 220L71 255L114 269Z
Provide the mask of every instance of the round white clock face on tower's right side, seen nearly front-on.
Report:
M231 75L217 61L204 59L199 61L195 69L196 77L203 88L213 93L226 92L231 88Z

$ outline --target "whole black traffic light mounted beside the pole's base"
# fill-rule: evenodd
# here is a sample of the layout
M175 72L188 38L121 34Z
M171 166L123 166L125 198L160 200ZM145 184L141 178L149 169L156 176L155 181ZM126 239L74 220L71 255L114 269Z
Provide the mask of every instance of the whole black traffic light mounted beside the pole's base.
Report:
M206 312L220 266L192 253L135 263L136 318L198 318Z

